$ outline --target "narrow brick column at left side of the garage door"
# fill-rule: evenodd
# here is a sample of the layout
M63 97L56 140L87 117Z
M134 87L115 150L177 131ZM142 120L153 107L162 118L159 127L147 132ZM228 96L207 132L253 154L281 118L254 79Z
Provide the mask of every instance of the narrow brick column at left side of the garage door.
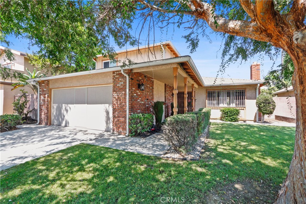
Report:
M49 124L49 80L39 81L39 124Z

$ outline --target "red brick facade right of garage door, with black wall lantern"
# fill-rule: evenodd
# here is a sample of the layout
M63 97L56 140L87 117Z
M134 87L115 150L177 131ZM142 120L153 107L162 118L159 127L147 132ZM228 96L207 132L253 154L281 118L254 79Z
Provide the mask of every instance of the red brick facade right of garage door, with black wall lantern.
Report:
M151 104L154 101L153 78L143 73L133 73L125 70L129 75L129 114L152 113ZM145 91L140 91L138 83L144 80ZM113 132L126 134L126 77L121 71L113 72Z

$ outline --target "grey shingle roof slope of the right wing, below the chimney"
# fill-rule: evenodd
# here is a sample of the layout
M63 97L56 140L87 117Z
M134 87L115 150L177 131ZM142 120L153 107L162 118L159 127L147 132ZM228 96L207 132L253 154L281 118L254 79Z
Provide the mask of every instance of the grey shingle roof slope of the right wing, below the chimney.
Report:
M231 79L223 77L202 77L205 86L230 86L245 84L262 84L264 80Z

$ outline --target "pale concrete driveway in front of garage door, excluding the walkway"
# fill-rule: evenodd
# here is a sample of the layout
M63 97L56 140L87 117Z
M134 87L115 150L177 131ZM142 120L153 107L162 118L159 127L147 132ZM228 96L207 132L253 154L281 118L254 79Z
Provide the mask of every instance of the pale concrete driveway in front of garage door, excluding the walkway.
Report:
M1 133L0 170L10 168L58 150L85 143L111 132L64 126L21 125L19 130Z

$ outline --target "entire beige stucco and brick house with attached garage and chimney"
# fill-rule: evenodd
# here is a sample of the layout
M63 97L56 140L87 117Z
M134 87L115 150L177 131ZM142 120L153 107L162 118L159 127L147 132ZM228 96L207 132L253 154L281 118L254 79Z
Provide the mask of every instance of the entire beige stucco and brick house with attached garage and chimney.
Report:
M155 54L154 54L155 53ZM212 108L236 107L241 120L256 121L255 100L263 81L260 65L251 65L251 80L201 77L190 56L181 56L170 42L117 52L116 61L95 58L96 69L31 79L39 83L39 123L64 125L121 135L129 133L128 117L152 113L154 101L164 101L164 118ZM121 67L128 57L135 64Z

